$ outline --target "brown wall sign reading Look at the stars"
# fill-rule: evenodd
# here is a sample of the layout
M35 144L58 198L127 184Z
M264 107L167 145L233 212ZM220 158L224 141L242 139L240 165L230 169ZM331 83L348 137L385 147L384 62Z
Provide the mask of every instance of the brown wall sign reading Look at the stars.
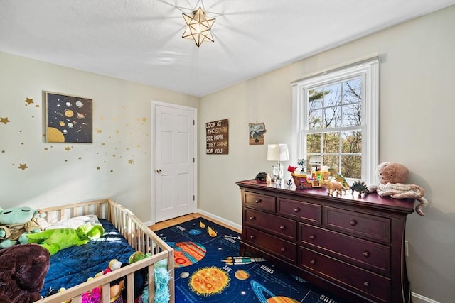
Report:
M228 119L205 123L205 153L227 155L229 153Z

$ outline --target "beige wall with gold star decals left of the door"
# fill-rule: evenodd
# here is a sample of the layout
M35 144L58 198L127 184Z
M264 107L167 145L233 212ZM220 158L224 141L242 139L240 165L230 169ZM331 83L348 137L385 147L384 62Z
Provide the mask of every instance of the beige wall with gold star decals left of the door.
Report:
M45 143L43 90L93 99L93 143ZM110 197L150 221L151 100L196 108L199 102L0 53L0 117L10 121L0 123L0 206L45 207ZM21 170L20 164L28 168Z

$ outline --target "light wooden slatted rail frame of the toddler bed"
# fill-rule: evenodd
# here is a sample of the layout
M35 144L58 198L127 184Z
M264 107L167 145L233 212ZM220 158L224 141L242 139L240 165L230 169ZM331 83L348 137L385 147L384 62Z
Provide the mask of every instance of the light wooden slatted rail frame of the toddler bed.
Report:
M109 272L107 275L102 275L101 277L76 285L68 290L59 292L58 294L45 297L37 302L62 303L67 300L72 300L72 303L80 303L82 302L83 293L90 291L95 287L102 287L102 302L109 303L109 282L117 280L119 277L126 277L127 280L127 302L134 302L134 272L141 270L142 268L148 268L149 303L153 303L155 293L155 264L159 260L164 259L167 260L167 269L171 275L171 280L168 282L170 294L169 302L175 301L173 248L162 241L159 236L156 236L156 234L145 226L132 211L117 204L117 202L114 202L112 199L55 206L41 210L45 212L45 219L50 224L75 216L96 214L99 218L111 221L118 231L122 233L124 238L127 239L129 245L131 245L134 250L139 250L143 253L151 253L151 257L127 265L114 272ZM115 256L113 256L113 258L115 258Z

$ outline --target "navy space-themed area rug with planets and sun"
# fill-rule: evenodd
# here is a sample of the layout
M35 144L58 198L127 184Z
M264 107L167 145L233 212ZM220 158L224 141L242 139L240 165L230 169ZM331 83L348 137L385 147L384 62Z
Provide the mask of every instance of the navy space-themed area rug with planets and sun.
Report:
M177 303L343 303L264 258L241 257L240 234L207 219L155 233L175 250Z

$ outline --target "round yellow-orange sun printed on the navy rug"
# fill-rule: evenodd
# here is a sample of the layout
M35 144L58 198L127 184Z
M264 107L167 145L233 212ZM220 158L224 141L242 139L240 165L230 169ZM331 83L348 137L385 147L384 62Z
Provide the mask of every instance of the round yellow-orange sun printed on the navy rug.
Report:
M190 277L188 286L198 296L203 295L207 297L211 294L220 294L229 286L229 283L229 275L224 270L213 266L210 268L200 268L200 270L194 272Z

